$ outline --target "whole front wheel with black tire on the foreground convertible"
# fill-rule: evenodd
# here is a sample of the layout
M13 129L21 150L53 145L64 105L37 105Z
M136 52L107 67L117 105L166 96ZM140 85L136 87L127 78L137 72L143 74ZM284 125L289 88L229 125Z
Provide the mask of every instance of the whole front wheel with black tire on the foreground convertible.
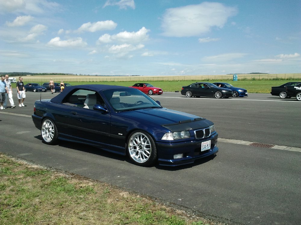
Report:
M138 166L150 166L157 160L157 148L154 139L144 131L134 131L127 143L130 160Z

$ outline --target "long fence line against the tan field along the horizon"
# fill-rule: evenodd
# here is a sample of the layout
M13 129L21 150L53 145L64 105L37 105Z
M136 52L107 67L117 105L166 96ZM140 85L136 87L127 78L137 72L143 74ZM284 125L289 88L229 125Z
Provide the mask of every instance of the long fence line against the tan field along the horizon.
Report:
M227 81L232 80L233 75L195 75L195 76L23 76L24 82L49 82L52 78L55 82L151 82L151 81ZM296 80L301 79L301 73L282 74L237 74L238 80ZM16 78L17 79L17 78Z

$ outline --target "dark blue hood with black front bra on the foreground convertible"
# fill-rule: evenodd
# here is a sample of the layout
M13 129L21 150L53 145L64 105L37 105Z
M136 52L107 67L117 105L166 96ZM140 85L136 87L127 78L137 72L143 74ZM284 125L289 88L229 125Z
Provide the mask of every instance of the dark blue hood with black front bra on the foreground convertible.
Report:
M204 118L166 108L124 111L120 114L135 121L144 120L145 123L161 125L171 131L194 130L213 125L213 122Z

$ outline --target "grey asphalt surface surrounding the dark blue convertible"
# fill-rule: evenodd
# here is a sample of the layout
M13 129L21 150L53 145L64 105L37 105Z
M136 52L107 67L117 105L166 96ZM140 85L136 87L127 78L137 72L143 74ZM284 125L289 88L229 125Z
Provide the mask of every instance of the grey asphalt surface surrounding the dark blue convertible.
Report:
M42 99L55 95L42 93ZM164 107L212 120L219 137L301 147L301 103L295 99L268 94L188 99L171 92L152 97ZM138 167L90 146L42 143L30 116L39 98L40 93L26 92L26 107L0 111L1 152L228 224L301 224L301 152L219 142L214 159L175 168Z

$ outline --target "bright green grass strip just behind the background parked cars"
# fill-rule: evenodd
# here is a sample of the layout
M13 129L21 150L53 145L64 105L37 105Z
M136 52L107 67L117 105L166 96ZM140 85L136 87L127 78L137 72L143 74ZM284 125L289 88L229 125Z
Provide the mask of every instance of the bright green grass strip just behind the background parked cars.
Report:
M270 93L272 86L279 86L287 82L293 82L298 80L239 80L239 81L223 81L232 84L234 87L245 88L249 93ZM202 81L199 81L202 82ZM206 81L204 81L206 82ZM220 82L208 81L210 83ZM136 82L68 82L71 85L79 84L108 84L108 85L121 85L121 86L132 86ZM138 83L138 82L137 82ZM187 86L194 83L194 81L153 81L149 82L151 85L162 88L164 91L181 91L182 86Z

